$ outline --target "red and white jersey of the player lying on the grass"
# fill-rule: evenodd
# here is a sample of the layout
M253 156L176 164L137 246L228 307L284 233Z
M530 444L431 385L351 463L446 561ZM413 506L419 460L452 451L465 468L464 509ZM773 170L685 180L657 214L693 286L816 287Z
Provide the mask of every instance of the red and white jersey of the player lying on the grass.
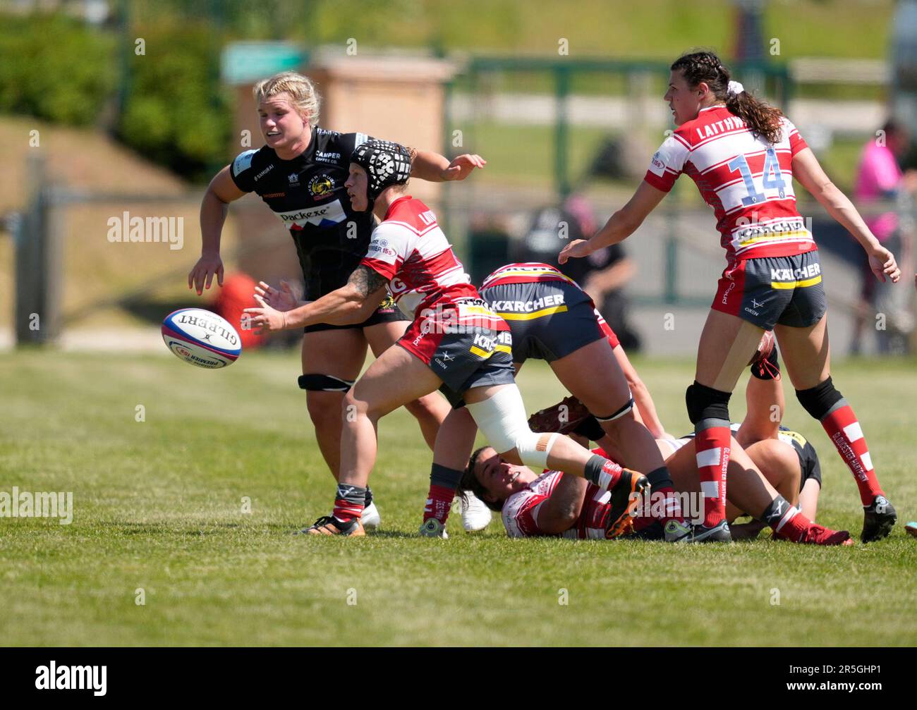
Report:
M511 538L525 538L552 534L538 527L538 509L554 493L563 475L560 471L547 471L539 475L527 488L515 492L506 499L502 515L507 535ZM572 528L560 533L560 537L574 540L604 540L611 497L609 491L589 484L580 518Z

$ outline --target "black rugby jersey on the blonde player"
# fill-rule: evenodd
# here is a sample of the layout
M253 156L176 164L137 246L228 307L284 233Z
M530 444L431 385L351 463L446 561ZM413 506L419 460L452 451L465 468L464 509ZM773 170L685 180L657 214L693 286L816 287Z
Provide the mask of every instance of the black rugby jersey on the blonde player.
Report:
M372 213L353 211L344 182L354 148L371 139L315 127L309 147L292 160L263 146L240 153L230 166L238 189L257 193L290 230L306 300L344 286L370 246Z

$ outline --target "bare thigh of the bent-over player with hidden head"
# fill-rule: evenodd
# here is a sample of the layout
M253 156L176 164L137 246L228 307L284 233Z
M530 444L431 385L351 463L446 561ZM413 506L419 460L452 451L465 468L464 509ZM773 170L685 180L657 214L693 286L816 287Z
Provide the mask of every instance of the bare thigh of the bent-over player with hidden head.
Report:
M554 374L592 414L607 417L630 399L621 366L605 338L550 363Z

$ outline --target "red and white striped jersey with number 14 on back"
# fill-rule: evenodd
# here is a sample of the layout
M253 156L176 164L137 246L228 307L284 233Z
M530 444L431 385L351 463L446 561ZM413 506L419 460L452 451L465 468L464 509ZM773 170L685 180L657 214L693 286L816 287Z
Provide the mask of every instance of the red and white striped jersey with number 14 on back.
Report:
M725 106L702 108L666 138L646 171L644 180L666 192L681 173L697 183L730 262L816 248L793 192L792 158L807 145L787 118L780 123L782 136L770 144Z

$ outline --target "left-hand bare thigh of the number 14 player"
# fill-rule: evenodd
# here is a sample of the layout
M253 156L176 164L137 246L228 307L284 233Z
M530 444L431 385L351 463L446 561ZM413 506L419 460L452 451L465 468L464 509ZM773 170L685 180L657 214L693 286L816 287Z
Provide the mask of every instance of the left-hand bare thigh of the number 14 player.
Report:
M764 329L754 323L711 309L697 349L694 379L706 387L732 392L763 334Z

